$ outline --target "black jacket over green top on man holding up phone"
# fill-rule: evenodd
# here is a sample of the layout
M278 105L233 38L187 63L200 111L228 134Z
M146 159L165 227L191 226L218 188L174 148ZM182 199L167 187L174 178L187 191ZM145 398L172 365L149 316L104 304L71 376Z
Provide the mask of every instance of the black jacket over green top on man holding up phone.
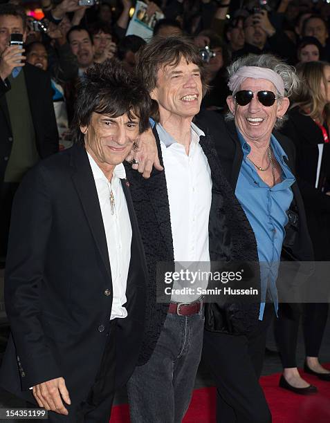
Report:
M26 89L28 91L28 101L35 127L35 137L37 151L40 158L46 158L58 151L58 133L53 107L53 91L51 89L51 79L48 74L41 69L30 64L26 64L22 71L26 79ZM8 158L12 149L12 127L6 102L6 92L10 90L10 82L6 79L6 84L0 78L0 181L6 171ZM17 104L19 113L20 104Z

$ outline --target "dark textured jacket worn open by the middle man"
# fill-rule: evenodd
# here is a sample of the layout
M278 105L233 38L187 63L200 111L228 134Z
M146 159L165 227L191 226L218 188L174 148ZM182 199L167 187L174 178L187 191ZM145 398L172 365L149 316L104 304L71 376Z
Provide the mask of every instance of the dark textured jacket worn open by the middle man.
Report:
M210 133L207 129L204 132L205 137L201 137L200 145L208 159L212 178L210 258L212 261L221 262L257 261L257 245L253 230L223 176ZM158 157L163 165L160 142L155 129L154 135ZM144 364L152 355L167 315L168 304L156 301L156 265L158 262L174 262L173 239L165 172L154 169L151 177L145 180L137 171L132 171L129 164L125 167L149 270L146 329L139 360L139 364ZM182 200L185 201L184 195ZM250 321L254 324L257 321L257 306L249 306L248 309L251 315ZM245 321L241 320L240 312L237 313L230 308L226 313L228 321L223 324L223 330L235 330L234 327L239 330L242 324L244 326Z

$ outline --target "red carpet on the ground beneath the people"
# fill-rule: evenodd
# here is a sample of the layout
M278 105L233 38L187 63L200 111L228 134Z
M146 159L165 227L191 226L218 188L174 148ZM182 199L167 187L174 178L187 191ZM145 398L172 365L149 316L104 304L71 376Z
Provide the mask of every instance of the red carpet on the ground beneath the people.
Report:
M330 370L330 364L325 367ZM318 387L317 394L304 397L279 388L279 373L260 379L273 423L330 423L330 382L322 382L306 373L302 375ZM214 423L214 415L214 388L196 389L183 423ZM127 404L113 407L110 423L129 423Z

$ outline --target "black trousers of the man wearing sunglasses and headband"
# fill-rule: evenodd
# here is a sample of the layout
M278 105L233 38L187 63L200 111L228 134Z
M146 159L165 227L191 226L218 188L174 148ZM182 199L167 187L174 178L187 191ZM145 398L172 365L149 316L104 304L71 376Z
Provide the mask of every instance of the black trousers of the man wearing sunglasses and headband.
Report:
M269 423L272 421L259 385L266 346L266 331L273 304L250 335L204 332L203 357L217 385L217 423Z

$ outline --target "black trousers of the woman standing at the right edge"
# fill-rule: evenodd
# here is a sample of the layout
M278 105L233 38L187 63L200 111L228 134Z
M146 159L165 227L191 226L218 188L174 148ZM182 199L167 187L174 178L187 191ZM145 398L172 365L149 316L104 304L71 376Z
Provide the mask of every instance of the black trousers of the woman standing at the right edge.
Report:
M284 368L297 367L295 357L297 337L302 317L306 356L318 357L329 303L279 304L279 318L275 321L275 339Z

